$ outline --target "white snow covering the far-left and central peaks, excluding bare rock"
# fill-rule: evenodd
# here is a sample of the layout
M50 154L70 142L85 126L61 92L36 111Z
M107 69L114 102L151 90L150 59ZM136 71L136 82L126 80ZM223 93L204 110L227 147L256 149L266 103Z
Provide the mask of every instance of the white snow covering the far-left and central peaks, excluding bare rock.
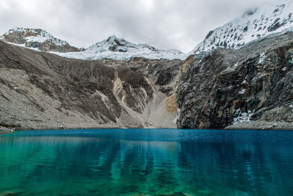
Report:
M57 39L52 36L52 34L47 33L45 30L42 29L25 29L22 27L15 27L10 29L4 35L13 33L13 32L24 32L23 38L25 38L26 42L44 42L49 41L56 45L62 46L66 45L67 42ZM35 33L35 36L25 36L31 35ZM3 39L3 37L1 37ZM120 43L118 46L117 42ZM15 44L18 46L25 47L25 44ZM113 47L116 45L118 51L110 51L109 47ZM36 48L31 48L35 49ZM126 51L126 52L119 52L119 49ZM103 41L97 42L87 48L85 51L82 52L67 52L67 53L59 53L59 52L51 52L57 54L59 56L64 56L67 58L77 58L83 60L98 60L98 59L116 59L116 60L130 60L133 57L144 57L149 59L181 59L185 60L188 55L182 53L179 50L171 49L171 50L161 50L156 49L152 46L147 44L134 44L129 41L119 39L115 35L110 36L108 39Z

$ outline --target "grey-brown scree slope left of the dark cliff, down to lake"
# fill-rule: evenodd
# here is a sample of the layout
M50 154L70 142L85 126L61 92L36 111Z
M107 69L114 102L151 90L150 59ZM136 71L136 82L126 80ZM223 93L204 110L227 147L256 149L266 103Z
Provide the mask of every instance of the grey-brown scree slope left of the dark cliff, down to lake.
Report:
M180 62L84 61L0 41L0 126L176 128L176 96L161 93L158 76L146 72L155 63L179 70Z

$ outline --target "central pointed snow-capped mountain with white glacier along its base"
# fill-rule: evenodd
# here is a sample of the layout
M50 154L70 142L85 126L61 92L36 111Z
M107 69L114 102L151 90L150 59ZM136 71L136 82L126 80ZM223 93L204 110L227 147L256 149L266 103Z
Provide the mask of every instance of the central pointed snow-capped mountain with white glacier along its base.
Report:
M119 39L115 35L97 42L88 47L82 52L68 52L68 53L55 53L67 58L78 58L84 60L98 60L98 59L127 59L132 57L144 57L149 59L185 59L186 54L179 50L161 50L156 49L147 44L134 44L124 39Z

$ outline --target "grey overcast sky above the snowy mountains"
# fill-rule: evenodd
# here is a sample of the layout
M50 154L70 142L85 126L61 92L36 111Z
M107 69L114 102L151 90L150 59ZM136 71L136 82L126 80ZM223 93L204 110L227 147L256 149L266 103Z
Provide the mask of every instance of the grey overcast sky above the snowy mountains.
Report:
M191 51L206 34L267 0L0 0L0 34L45 29L87 48L111 35L158 49Z

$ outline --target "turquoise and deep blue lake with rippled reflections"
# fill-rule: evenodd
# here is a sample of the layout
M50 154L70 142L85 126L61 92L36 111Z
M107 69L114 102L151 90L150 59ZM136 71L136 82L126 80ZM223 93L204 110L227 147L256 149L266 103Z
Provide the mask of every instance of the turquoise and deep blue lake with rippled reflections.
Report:
M0 175L0 195L293 195L293 131L17 131Z

